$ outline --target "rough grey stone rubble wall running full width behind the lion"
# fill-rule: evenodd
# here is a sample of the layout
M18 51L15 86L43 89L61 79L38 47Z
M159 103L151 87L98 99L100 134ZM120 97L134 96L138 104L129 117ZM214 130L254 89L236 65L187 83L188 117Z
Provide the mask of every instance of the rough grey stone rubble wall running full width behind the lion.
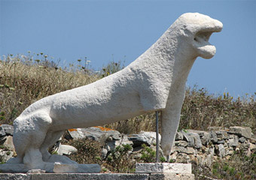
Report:
M12 127L9 125L0 126L0 160L5 162L14 154L12 146ZM69 130L69 137L66 139L89 138L102 142L102 158L117 145L129 144L133 148L130 153L135 158L141 157L142 144L148 145L154 151L156 149L156 133L144 132L138 134L121 134L117 130L105 127L90 127ZM58 154L72 154L77 151L71 145L56 143ZM235 151L242 150L250 156L251 151L256 149L256 139L249 127L210 127L209 131L203 130L182 130L176 133L175 143L172 147L171 160L175 163L196 163L197 165L211 167L217 157L228 159ZM160 157L163 151L160 149Z

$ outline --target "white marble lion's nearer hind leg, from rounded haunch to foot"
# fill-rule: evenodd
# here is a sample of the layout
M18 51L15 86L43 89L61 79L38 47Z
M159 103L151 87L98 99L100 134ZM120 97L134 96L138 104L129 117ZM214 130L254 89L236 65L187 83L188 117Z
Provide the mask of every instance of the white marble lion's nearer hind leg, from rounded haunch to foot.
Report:
M47 129L51 124L48 113L33 113L14 122L14 146L17 160L23 162L29 169L41 168L42 154L39 151L44 142ZM12 163L12 161L11 161Z

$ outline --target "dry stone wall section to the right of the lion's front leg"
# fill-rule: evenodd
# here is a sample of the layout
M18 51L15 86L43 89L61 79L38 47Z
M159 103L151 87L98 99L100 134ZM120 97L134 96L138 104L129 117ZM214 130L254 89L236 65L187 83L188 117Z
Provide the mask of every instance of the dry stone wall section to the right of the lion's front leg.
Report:
M176 163L197 163L210 167L218 157L228 159L235 151L243 151L250 156L255 149L255 136L248 127L210 127L209 131L178 132L171 159Z

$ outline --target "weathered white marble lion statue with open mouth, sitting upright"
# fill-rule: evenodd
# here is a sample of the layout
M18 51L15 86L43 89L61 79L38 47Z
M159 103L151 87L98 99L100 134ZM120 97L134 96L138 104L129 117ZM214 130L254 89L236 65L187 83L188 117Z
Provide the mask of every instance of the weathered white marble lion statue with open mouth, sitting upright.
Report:
M163 153L169 159L178 129L185 83L198 56L212 58L209 43L222 23L200 13L184 13L134 62L101 80L30 105L14 121L17 157L29 169L44 169L47 163L75 163L50 154L52 146L69 128L92 127L162 111Z

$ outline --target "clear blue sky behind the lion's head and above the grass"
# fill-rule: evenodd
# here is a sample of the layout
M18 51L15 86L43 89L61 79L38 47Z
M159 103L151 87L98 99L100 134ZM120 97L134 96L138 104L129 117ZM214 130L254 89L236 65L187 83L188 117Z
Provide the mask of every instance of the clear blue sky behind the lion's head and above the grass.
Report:
M187 80L212 94L256 92L256 1L0 0L0 55L44 52L61 65L87 57L96 71L108 62L129 65L182 14L220 20L217 52L197 58Z

